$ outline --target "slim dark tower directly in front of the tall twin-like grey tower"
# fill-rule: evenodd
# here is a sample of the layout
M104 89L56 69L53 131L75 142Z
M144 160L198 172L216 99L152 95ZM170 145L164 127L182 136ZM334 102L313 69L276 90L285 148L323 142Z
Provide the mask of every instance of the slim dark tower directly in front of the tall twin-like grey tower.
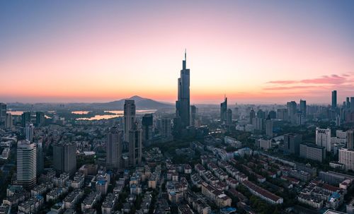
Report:
M129 163L132 167L142 163L142 129L137 124L129 130Z

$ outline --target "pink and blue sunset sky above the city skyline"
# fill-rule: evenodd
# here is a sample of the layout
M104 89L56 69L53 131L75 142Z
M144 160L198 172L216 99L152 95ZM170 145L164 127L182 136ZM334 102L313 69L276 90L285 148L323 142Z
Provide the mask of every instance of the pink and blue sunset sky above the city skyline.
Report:
M0 1L0 102L338 103L354 1Z

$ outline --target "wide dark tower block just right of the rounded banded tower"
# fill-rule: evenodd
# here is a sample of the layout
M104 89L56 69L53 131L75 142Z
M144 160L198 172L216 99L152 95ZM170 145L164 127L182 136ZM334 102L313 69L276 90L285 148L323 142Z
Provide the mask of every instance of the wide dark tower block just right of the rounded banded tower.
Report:
M53 146L55 170L72 174L76 170L76 144L57 143Z

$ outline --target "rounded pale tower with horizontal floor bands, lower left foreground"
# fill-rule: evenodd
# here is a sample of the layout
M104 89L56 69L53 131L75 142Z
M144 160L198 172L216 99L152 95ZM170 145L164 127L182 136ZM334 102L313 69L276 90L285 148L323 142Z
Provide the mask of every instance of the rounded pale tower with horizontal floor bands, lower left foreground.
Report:
M37 155L35 143L18 141L17 143L17 182L25 189L35 186L37 174Z

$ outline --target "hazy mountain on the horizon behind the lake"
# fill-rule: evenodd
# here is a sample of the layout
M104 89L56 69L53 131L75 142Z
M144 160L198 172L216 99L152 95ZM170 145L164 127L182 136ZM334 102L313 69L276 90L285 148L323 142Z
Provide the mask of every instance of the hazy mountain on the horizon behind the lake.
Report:
M173 107L172 104L158 102L156 100L139 97L137 95L122 100L116 100L113 102L96 102L92 103L91 105L95 108L101 109L123 109L125 100L135 100L135 105L137 109L163 109Z

